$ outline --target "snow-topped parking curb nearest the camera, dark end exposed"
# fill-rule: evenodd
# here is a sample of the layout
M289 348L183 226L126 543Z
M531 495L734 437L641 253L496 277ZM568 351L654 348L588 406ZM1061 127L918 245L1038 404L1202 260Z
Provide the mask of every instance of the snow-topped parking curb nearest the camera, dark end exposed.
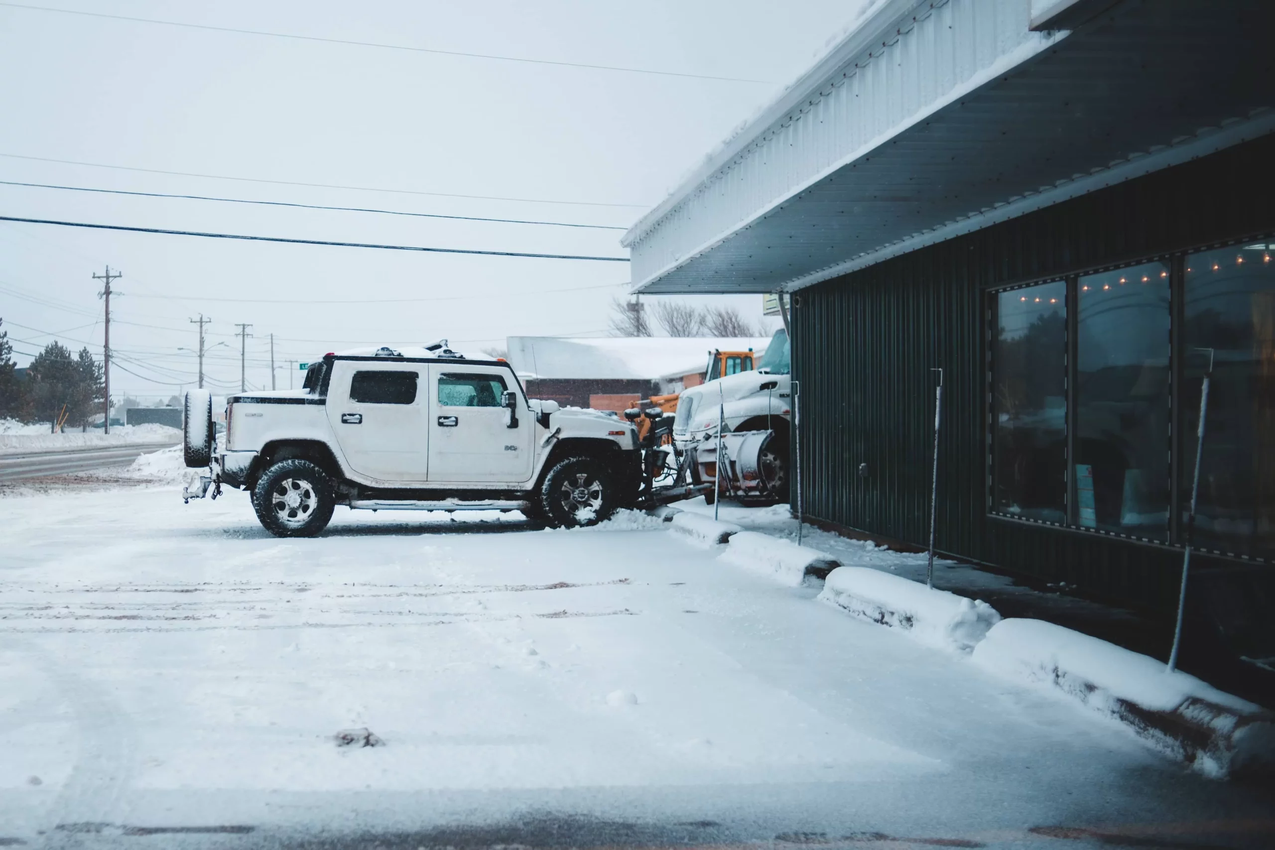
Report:
M1148 655L1039 619L1006 619L974 661L1052 686L1205 776L1275 774L1275 714Z

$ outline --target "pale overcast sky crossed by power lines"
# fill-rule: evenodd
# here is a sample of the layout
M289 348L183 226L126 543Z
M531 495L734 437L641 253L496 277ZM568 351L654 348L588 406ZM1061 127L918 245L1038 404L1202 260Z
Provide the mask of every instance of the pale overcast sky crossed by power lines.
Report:
M29 0L28 5L42 4ZM300 41L0 4L0 181L627 228L806 70L863 0L218 4L56 8L731 82ZM361 191L103 168L20 157ZM481 198L476 198L481 196ZM528 199L528 200L499 200ZM0 214L413 246L626 256L581 229L0 185ZM627 264L311 247L0 222L0 317L26 364L50 339L101 353L112 395L191 386L203 312L214 386L358 344L599 335ZM400 301L391 301L400 299ZM417 299L417 301L402 301ZM760 317L757 296L729 301ZM133 322L133 324L127 324ZM143 380L121 370L131 370ZM163 381L164 384L159 384Z

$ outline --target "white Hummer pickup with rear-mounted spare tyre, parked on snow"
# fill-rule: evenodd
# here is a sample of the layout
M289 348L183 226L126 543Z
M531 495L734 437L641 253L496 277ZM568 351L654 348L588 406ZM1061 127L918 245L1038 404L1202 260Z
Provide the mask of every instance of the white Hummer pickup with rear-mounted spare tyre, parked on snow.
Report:
M301 390L232 395L215 441L212 396L187 393L185 437L186 465L209 470L186 498L246 489L278 537L319 534L337 505L519 510L569 526L641 498L631 422L529 400L509 363L446 340L326 354Z

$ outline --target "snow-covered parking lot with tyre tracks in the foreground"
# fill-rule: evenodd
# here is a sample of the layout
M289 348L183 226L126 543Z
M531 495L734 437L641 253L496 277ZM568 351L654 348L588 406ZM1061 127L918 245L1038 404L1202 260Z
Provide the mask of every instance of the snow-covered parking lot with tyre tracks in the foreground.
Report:
M1269 794L648 517L278 540L172 487L0 517L0 845L1275 841Z

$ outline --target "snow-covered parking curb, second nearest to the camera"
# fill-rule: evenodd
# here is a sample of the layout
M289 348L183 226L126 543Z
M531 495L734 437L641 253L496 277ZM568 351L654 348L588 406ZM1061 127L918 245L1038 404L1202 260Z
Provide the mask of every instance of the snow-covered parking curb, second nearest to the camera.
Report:
M946 650L969 652L1001 616L986 601L870 567L840 567L827 576L819 598L861 619L908 632Z

